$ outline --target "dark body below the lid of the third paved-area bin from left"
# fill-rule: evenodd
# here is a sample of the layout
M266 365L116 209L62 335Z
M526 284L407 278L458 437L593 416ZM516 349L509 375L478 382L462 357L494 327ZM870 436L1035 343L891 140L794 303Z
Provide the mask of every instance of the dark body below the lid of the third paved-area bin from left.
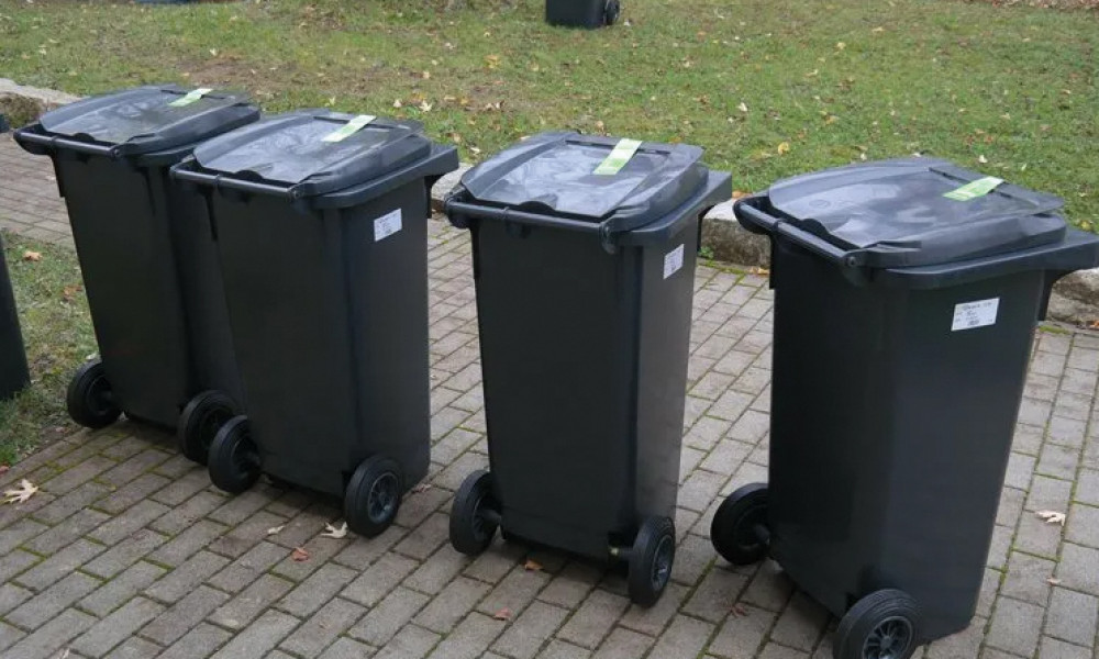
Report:
M473 239L503 526L606 558L642 515L674 513L693 261L662 293L655 249L498 222Z

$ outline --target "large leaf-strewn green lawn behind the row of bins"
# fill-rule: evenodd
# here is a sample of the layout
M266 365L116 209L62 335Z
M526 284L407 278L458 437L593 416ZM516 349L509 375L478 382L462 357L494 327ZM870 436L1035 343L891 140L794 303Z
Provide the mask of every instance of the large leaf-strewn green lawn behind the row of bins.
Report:
M445 4L0 0L0 76L79 93L225 85L269 111L415 118L469 160L550 129L690 142L741 190L932 154L1099 225L1095 11L625 0L629 24L584 32L545 25L541 0Z

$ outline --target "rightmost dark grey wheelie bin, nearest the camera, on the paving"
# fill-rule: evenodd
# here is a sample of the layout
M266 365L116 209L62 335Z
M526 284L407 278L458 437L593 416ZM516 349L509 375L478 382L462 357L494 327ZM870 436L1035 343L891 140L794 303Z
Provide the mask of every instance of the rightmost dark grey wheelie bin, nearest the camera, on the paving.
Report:
M1054 281L1099 265L1061 206L930 158L734 206L771 238L769 483L722 502L711 538L840 616L836 659L907 659L974 615L1035 325Z

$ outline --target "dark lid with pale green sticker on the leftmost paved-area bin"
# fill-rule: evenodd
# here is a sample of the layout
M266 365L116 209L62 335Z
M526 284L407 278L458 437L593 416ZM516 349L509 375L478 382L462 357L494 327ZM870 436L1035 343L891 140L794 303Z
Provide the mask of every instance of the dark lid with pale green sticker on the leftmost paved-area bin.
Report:
M82 99L38 122L54 135L114 145L119 155L133 156L201 142L258 115L245 94L165 85Z

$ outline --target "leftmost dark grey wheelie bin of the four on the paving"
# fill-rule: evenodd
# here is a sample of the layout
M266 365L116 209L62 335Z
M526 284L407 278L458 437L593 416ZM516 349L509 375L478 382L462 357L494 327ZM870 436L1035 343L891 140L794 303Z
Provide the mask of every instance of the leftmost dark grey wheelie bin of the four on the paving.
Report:
M24 149L53 159L99 343L100 358L68 389L77 423L103 427L125 412L177 427L201 461L211 428L243 404L206 206L168 171L258 116L236 93L140 87L15 131Z

